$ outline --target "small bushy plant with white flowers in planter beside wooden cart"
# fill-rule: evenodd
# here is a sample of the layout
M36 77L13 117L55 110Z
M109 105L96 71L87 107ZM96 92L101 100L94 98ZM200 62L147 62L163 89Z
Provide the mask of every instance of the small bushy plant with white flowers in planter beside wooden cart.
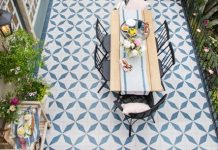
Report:
M48 94L49 86L42 79L31 78L17 87L17 96L24 101L41 101Z

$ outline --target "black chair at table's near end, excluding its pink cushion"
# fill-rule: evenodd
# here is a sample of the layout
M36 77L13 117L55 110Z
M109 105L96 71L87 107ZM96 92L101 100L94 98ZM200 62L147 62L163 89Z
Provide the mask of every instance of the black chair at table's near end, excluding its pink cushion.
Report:
M121 111L123 111L122 104L126 103L146 103L150 106L151 109L141 112L141 113L130 113L129 115L125 115L126 120L129 123L129 137L131 136L132 132L132 125L139 119L144 119L146 117L151 117L153 122L155 123L154 120L154 113L157 111L159 106L163 104L163 102L166 100L167 94L165 94L157 104L154 105L154 99L152 93L149 93L148 96L137 96L137 95L127 95L123 96L121 99L118 99L114 101L115 104L115 110L119 108ZM133 121L133 119L136 119Z

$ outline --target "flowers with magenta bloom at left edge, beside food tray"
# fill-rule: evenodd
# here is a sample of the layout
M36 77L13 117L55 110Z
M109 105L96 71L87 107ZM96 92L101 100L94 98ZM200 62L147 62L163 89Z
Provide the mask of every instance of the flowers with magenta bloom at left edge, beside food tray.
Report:
M5 99L0 100L0 117L6 122L16 123L19 117L19 103L20 100L17 97L12 97L9 93Z

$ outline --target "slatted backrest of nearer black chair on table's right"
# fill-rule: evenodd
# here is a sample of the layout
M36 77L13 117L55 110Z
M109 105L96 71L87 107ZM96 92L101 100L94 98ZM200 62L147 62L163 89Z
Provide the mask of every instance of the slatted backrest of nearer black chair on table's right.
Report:
M161 77L175 64L175 55L172 44L162 46L158 52L158 59L161 61Z

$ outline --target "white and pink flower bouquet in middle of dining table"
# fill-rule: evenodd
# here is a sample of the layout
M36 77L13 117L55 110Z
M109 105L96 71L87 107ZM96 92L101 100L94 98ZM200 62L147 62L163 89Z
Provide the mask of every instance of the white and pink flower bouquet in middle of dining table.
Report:
M129 57L141 56L141 40L135 38L124 39L123 47Z

